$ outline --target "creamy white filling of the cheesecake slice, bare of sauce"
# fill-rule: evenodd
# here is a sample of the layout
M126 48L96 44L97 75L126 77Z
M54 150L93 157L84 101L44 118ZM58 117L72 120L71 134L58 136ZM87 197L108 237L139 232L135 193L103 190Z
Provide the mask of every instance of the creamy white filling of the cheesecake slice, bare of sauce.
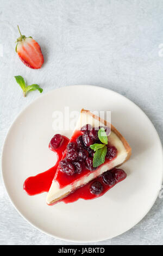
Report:
M79 117L79 120L78 120L75 130L80 130L80 128L86 124L91 124L92 127L104 126L103 123L92 118L91 115L84 112L84 113L80 114L80 117ZM51 188L49 189L48 195L47 195L47 199L46 199L47 204L51 204L55 199L58 199L62 196L64 197L64 195L67 194L68 192L71 193L76 188L85 185L89 181L95 179L97 176L106 172L106 170L110 170L110 169L116 167L117 165L123 163L126 160L127 151L126 151L121 139L118 138L118 136L112 131L111 131L110 135L108 136L108 142L109 142L109 144L114 145L114 147L117 148L118 153L117 153L116 159L114 159L106 164L103 164L102 166L99 166L96 170L82 176L82 178L73 181L72 184L67 185L63 188L60 188L58 182L55 181L55 179L54 179L52 182Z

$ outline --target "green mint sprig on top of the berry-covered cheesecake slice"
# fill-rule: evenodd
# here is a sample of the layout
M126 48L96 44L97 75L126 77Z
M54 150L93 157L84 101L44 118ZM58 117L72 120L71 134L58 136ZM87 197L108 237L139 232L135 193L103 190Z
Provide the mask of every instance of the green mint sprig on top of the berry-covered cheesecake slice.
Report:
M90 148L95 151L95 154L93 156L93 167L98 167L105 162L105 156L107 153L106 145L108 144L108 136L106 135L106 132L103 127L98 131L98 138L103 144L95 143L90 145Z

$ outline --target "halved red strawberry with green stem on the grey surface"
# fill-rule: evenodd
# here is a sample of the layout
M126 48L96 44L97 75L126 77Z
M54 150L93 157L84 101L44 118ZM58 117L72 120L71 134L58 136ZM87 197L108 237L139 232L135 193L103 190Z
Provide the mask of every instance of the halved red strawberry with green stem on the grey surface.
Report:
M18 31L20 32L19 27ZM40 45L31 36L26 38L21 32L20 35L16 45L18 56L26 66L29 66L29 68L40 69L44 62Z

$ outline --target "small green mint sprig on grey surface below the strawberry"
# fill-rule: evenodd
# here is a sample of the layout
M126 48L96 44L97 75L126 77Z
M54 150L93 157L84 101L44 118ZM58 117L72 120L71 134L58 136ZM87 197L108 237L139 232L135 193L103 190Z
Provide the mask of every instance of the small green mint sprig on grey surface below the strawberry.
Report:
M31 86L26 86L26 83L22 76L15 76L16 82L20 85L23 90L23 96L26 97L27 92L32 92L33 90L39 90L42 93L43 89L39 84L32 84Z

